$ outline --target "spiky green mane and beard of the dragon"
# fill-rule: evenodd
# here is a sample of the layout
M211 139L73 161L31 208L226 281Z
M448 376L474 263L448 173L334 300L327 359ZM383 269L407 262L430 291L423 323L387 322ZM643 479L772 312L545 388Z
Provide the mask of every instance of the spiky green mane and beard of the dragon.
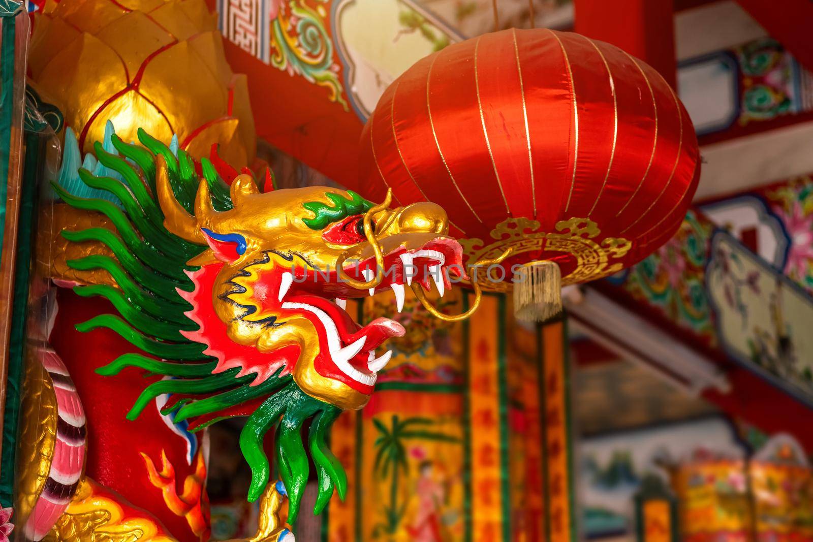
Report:
M63 168L59 183L54 184L63 202L101 213L115 226L115 232L106 228L62 232L68 241L98 241L115 256L91 254L67 262L76 270L107 271L116 284L74 288L82 297L105 297L118 313L100 314L76 329L90 332L107 327L143 352L126 353L96 372L117 375L127 367L138 367L150 375L166 377L141 392L127 415L129 419L137 418L164 393L177 397L167 401L162 414L174 413L176 423L188 420L189 431L200 431L238 415L235 412L239 409L254 407L240 435L240 448L252 471L248 498L255 501L270 479L263 437L277 426L276 462L289 495L291 523L297 517L309 475L302 427L310 422L307 446L319 483L314 513L320 514L334 488L342 499L346 492L345 471L325 442L340 410L302 392L291 375L280 377L281 369L257 386L250 386L256 375L237 378L237 368L213 375L216 362L203 353L206 345L180 334L194 331L198 325L185 316L191 307L176 288L186 292L193 289L185 271L198 267L189 267L186 262L207 247L180 239L164 228L163 212L155 200L155 157L161 155L166 160L175 197L189 213L194 212L194 197L202 180L209 185L215 210L231 209L232 201L228 185L206 158L201 160L203 179L199 180L193 158L176 148L175 138L167 146L139 130L138 140L141 145L121 141L108 123L104 144L94 145L98 163L85 157L83 167L79 167L76 137L67 131Z

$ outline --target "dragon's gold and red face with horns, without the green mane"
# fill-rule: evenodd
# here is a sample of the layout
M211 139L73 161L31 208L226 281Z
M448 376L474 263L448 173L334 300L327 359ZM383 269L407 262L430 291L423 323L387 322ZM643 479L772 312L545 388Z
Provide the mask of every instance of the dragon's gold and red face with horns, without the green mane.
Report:
M362 408L391 355L376 349L405 330L386 318L361 326L344 301L389 293L400 310L406 285L434 283L443 292L449 273L464 276L461 246L433 203L389 209L326 187L259 193L239 176L233 209L213 210L202 182L192 216L163 177L159 171L167 228L209 245L189 262L201 266L190 273L195 292L185 295L201 324L190 335L219 359L215 372L239 366L240 375L258 375L252 385L282 368L311 397Z

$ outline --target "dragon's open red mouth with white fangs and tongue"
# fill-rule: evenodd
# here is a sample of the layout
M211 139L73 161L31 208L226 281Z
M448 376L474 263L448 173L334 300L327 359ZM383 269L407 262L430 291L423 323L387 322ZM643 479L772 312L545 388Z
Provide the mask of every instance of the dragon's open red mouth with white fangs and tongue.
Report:
M279 315L277 321L280 323L288 317L286 313L302 314L313 323L319 334L321 355L329 357L328 363L317 364L317 370L321 369L320 374L339 379L351 388L369 394L376 384L378 372L392 357L390 350L380 355L376 355L375 350L390 337L404 335L406 330L400 323L387 318L378 318L360 326L346 312L345 300L391 291L398 312L401 312L406 286L413 283L421 284L427 291L431 284L435 284L442 296L452 286L450 273L465 276L462 252L459 243L447 237L437 237L412 249L398 245L385 254L384 268L378 271L383 275L380 284L366 291L341 280L336 270L314 271L298 266L287 269L246 267L244 271L255 277L252 281L254 304L258 298L264 298L267 304L251 319L256 321L270 310ZM376 259L371 256L348 262L343 271L351 279L370 280L376 273ZM267 276L267 273L272 275ZM241 284L245 281L235 282ZM276 292L273 291L275 289ZM230 297L241 302L239 297L243 295ZM325 356L325 353L328 355ZM336 371L330 370L333 367Z

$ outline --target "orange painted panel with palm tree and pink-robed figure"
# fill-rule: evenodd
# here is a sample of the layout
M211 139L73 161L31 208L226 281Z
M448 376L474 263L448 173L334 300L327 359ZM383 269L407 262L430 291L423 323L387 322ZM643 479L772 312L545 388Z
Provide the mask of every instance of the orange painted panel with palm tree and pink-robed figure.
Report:
M363 540L461 540L463 397L379 392L363 410ZM367 468L369 467L369 468Z

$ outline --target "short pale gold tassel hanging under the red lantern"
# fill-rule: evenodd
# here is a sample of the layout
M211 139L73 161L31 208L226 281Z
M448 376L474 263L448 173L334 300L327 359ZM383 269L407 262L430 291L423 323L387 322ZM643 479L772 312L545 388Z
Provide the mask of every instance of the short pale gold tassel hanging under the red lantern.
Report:
M546 322L562 312L562 272L555 262L528 262L515 276L514 314L525 322Z

